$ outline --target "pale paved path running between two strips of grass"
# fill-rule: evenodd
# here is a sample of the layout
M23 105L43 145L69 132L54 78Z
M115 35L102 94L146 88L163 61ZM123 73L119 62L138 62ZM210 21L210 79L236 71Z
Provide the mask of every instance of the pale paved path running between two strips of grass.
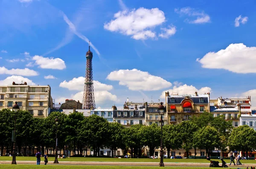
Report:
M16 161L17 164L36 164L36 161ZM10 164L12 161L0 161L0 164ZM44 161L41 161L44 163ZM48 164L54 164L49 161ZM61 161L58 164L62 165L115 165L115 166L158 166L159 162L99 162L99 161ZM55 164L55 165L58 165ZM168 163L164 162L165 166L209 166L210 163ZM220 163L221 164L221 163ZM228 164L227 164L228 165ZM229 166L229 165L228 165ZM231 165L234 166L233 164ZM240 167L256 166L255 164L242 164Z

